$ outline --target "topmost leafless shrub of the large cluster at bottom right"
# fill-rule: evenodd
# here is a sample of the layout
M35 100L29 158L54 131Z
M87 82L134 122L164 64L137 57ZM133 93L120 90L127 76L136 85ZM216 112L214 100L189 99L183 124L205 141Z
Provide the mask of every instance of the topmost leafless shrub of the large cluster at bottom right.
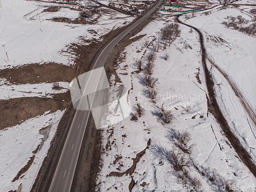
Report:
M175 146L179 147L184 153L190 154L194 144L188 144L191 140L190 134L186 131L176 131L171 129L165 136L170 142L174 143Z

